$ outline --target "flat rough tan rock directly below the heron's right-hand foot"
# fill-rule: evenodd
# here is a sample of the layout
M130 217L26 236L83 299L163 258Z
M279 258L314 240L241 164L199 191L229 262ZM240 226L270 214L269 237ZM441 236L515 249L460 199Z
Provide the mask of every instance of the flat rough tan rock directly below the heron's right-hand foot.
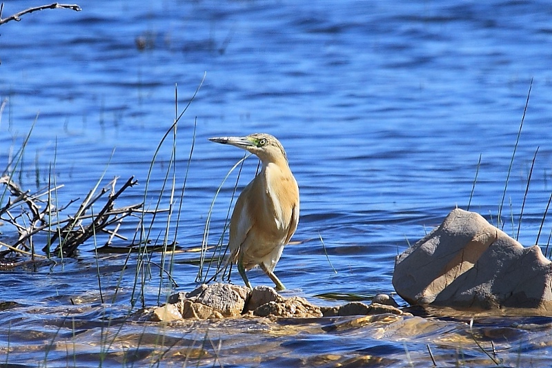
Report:
M291 298L282 298L281 301L271 301L262 304L253 311L257 317L295 317L312 318L322 317L322 311L319 307L309 303L304 298L293 296Z

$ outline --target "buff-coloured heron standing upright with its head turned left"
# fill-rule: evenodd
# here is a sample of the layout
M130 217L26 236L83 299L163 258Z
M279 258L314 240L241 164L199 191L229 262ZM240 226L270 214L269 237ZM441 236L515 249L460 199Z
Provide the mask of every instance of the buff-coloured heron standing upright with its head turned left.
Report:
M264 133L209 140L242 148L262 162L261 171L239 195L230 218L230 262L237 263L239 275L249 289L252 288L246 270L257 266L273 280L276 289L286 289L274 268L297 229L299 187L284 147L278 139Z

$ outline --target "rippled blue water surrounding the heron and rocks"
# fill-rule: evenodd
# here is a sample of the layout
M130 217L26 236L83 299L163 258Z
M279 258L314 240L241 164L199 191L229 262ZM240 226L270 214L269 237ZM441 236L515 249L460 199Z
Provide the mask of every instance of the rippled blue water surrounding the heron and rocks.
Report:
M6 1L3 17L39 4ZM172 272L179 290L195 287L197 266L189 261L198 254L186 250L201 244L213 195L243 157L208 137L267 132L281 140L299 182L301 218L293 238L299 244L286 247L277 274L287 295L342 303L316 296L393 292L395 255L455 206L467 208L480 155L470 206L497 223L531 78L503 221L515 235L539 147L519 236L522 244L535 243L551 191L548 3L102 0L81 6L82 12L44 10L0 26L6 101L0 162L8 164L36 119L16 175L23 188L47 186L51 165L65 185L59 202L67 203L86 196L106 171L105 183L114 176L139 180L119 205L141 202L155 148L175 117L175 84L181 111L206 73L177 135L181 186L197 117L176 235L185 251L175 255ZM170 152L168 142L157 155L148 204L161 190ZM240 186L256 166L247 160ZM234 182L235 175L215 203L210 244L219 239ZM551 221L544 222L543 250ZM121 233L131 237L136 226L130 219ZM155 236L164 226L156 222ZM418 366L432 365L429 346L439 366L493 364L465 319L123 323L131 300L141 306L132 293L135 258L122 272L126 254L102 254L97 263L93 249L86 244L75 259L1 271L5 362ZM259 271L249 274L253 284L269 282ZM160 283L161 296L170 292L166 282L152 271L144 303L157 303ZM482 317L473 333L486 351L493 341L504 365L539 366L552 354L550 322Z

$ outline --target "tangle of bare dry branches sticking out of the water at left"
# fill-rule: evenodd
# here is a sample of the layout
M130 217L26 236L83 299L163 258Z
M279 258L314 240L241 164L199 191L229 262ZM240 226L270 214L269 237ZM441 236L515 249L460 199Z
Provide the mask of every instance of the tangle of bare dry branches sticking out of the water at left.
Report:
M41 200L41 197L53 190L52 188L48 188L46 192L41 190L39 193L29 194L12 182L8 175L0 177L0 185L5 187L5 193L9 193L7 203L0 206L0 220L10 224L19 234L14 244L0 243L0 248L4 248L0 251L0 264L2 259L11 253L30 254L34 258L33 236L39 233L46 234L49 239L43 251L51 254L50 247L57 244L53 254L68 257L75 254L79 245L100 234L107 234L106 245L110 244L115 237L126 239L117 233L125 217L143 216L146 213L155 215L166 211L163 209L143 211L143 203L115 208L115 201L120 195L127 188L137 184L137 180L130 177L119 190L116 190L117 179L115 177L97 193L95 190L90 191L74 215L61 219L60 212L67 209L68 205L61 208L55 206L50 203L50 195L48 200ZM101 200L105 200L105 203L99 212L95 212L92 206L101 205L99 204ZM73 202L75 201L70 203Z

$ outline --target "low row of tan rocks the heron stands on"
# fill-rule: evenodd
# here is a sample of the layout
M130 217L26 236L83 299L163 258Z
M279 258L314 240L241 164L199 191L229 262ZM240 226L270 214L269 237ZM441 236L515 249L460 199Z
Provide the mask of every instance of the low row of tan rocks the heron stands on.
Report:
M230 284L202 284L190 293L175 293L161 307L144 309L141 320L172 321L213 318L317 318L331 316L368 316L403 314L390 296L380 294L371 304L350 302L340 307L317 307L305 298L284 298L272 287L250 290Z

